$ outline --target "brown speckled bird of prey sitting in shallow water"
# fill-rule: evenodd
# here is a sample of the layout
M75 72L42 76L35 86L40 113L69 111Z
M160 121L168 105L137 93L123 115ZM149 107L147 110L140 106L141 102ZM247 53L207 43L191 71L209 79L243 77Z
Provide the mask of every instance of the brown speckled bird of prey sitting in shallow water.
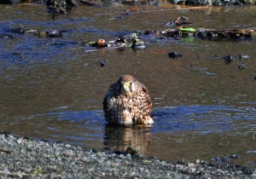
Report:
M108 124L131 126L154 123L148 89L131 75L123 75L113 83L102 104Z

